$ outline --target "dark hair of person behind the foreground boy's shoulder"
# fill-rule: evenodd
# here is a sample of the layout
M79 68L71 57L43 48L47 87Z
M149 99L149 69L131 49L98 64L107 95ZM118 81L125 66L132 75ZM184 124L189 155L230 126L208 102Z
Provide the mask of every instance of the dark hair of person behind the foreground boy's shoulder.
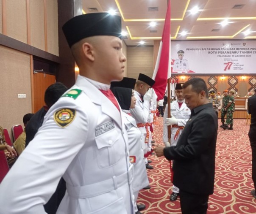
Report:
M45 104L50 108L67 89L68 88L61 82L50 85L45 91Z

